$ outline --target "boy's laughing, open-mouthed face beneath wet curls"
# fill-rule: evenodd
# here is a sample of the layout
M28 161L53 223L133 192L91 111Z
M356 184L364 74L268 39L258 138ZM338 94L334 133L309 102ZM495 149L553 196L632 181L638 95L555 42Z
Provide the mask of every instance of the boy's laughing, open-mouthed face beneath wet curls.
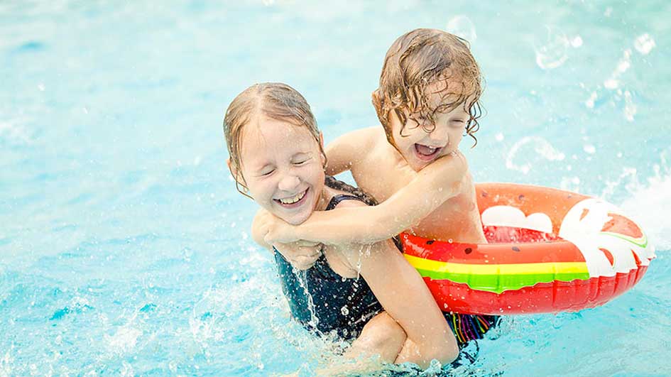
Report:
M429 106L437 108L445 102L452 102L456 94L445 96L441 93L433 93L429 96ZM437 158L457 151L459 142L462 141L469 113L459 104L446 113L435 113L435 129L431 132L425 128L432 129L430 121L421 119L419 114L408 114L405 112L406 122L401 124L398 116L390 112L391 131L396 149L403 155L410 168L415 171L422 170L426 165L437 160ZM415 120L413 120L413 118ZM419 122L420 124L417 124ZM422 127L422 122L425 127Z

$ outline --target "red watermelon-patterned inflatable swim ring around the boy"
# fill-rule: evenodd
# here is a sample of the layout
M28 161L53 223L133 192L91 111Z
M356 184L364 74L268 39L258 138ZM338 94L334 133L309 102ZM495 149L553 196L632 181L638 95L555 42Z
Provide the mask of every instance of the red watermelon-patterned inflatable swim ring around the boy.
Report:
M603 305L655 258L635 222L593 197L529 185L476 185L489 244L402 234L405 257L444 311L511 315Z

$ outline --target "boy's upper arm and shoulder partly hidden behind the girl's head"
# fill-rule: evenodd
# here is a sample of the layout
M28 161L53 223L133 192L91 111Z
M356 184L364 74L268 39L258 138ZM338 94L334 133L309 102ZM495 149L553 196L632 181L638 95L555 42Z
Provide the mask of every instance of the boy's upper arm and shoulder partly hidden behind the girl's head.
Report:
M326 146L326 173L337 175L350 170L352 164L359 163L364 157L362 151L369 144L370 134L373 130L361 129L345 133Z

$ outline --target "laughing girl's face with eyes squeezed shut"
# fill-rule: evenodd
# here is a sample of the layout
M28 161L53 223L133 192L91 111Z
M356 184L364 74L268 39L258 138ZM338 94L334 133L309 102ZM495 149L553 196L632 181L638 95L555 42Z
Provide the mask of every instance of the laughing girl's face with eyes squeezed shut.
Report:
M316 209L324 157L305 126L260 116L242 131L240 161L249 195L268 212L297 225Z

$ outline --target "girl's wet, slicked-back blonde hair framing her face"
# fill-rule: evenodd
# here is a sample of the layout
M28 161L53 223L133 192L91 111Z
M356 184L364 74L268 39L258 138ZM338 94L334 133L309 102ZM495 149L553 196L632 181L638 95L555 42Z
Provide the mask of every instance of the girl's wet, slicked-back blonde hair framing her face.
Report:
M236 189L242 195L249 197L246 194L246 182L241 173L242 134L244 127L258 120L259 116L276 121L287 121L295 126L307 128L307 131L310 131L312 137L315 138L317 145L320 146L324 166L326 165L326 153L324 153L320 140L317 121L305 98L296 89L281 82L253 84L233 99L224 116L224 138L226 138L231 159L231 173L235 175Z

